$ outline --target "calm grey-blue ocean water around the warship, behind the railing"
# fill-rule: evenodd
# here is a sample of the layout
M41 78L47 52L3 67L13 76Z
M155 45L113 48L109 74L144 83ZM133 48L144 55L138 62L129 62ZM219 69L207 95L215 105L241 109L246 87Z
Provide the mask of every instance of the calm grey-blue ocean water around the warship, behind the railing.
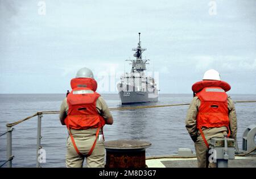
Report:
M230 94L234 101L256 100L256 94ZM59 110L65 94L0 94L0 134L6 123L26 118L36 111ZM102 94L109 107L120 107L118 94ZM191 94L160 94L159 102L141 105L168 105L190 103ZM137 104L138 105L138 104ZM128 106L137 106L128 105ZM127 106L127 105L126 105ZM178 148L191 148L193 142L185 129L188 106L160 107L153 109L112 111L114 124L104 127L105 140L138 139L150 141L146 156L170 155ZM239 147L247 126L256 124L256 103L236 103ZM13 167L36 166L37 118L14 126ZM65 167L65 142L68 132L61 126L58 114L42 118L42 147L46 150L43 167ZM6 160L6 135L0 137L0 164Z

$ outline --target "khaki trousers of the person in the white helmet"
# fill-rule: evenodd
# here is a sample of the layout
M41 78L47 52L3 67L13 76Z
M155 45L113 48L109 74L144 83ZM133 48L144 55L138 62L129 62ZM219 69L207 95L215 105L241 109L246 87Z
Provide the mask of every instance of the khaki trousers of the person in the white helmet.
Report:
M209 143L209 141L208 141ZM196 142L195 143L196 149L196 157L197 157L197 166L199 168L216 168L216 163L209 163L210 154L207 145L204 142Z

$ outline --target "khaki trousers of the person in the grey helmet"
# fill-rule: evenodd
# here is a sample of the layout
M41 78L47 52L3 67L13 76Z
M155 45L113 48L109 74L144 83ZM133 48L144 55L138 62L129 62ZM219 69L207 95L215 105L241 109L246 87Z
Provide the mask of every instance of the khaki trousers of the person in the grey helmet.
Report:
M66 166L68 168L82 168L84 160L86 159L86 165L88 168L103 168L105 159L105 147L104 141L98 141L92 152L92 155L85 157L89 153L90 148L96 139L96 130L71 130L72 136L75 140L76 146L80 153L84 156L77 154L76 149L73 146L70 136L67 139L67 153L66 153Z

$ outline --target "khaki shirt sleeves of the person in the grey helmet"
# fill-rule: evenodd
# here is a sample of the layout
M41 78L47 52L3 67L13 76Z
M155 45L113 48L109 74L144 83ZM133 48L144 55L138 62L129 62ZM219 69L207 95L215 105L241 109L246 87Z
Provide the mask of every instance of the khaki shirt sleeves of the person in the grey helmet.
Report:
M105 100L102 97L98 97L96 101L96 109L98 113L106 120L110 117L112 117L112 114L109 111L108 105L106 105ZM63 100L60 106L60 120L64 121L64 119L67 117L68 114L68 102L67 98Z

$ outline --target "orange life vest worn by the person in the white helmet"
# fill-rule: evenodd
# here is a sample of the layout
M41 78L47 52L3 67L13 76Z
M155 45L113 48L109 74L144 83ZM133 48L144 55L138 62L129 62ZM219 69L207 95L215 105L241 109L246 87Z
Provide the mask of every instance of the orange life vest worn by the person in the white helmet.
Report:
M202 127L225 126L229 131L228 95L226 91L230 90L230 85L225 81L204 80L196 82L192 86L192 90L201 102L196 118L197 129L200 130L201 136L209 148Z

